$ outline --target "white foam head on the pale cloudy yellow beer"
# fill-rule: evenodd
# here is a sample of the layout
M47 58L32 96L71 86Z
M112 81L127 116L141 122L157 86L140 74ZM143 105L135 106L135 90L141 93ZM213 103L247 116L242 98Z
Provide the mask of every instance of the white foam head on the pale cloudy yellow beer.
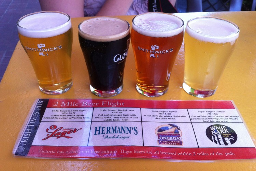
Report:
M215 17L198 17L188 21L186 32L193 38L212 43L234 43L239 28L233 23Z

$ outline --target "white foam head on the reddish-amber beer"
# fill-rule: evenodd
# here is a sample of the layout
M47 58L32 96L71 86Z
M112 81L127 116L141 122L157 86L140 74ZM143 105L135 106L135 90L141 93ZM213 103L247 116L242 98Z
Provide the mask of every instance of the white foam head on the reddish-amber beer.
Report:
M150 37L171 37L183 31L184 22L166 13L144 13L132 20L133 30Z

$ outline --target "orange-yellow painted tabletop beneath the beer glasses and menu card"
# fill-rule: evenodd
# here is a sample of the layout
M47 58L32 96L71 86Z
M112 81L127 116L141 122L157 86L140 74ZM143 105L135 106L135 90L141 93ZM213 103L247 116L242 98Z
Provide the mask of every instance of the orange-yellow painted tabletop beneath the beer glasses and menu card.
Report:
M124 72L124 89L113 99L145 100L233 100L251 136L256 137L256 11L179 13L186 23L197 16L216 16L238 25L240 35L215 95L196 98L182 89L184 46L175 60L168 92L161 97L145 97L136 90L135 61L130 45ZM130 24L134 16L120 16ZM46 95L39 88L33 68L18 42L0 84L0 170L256 170L256 162L229 160L215 162L171 162L158 159L34 159L13 157L12 150L29 110L37 98L100 99L89 89L86 64L78 41L77 26L85 18L72 18L73 87L62 95ZM14 26L15 27L15 26ZM200 47L199 47L200 48Z

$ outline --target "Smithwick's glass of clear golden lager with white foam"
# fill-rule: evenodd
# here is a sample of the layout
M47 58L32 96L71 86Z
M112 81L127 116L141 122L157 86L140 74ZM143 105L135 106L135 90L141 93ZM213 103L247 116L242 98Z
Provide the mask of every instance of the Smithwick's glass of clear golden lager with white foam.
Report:
M17 27L40 90L49 95L68 91L72 86L70 17L56 11L36 12L20 18Z

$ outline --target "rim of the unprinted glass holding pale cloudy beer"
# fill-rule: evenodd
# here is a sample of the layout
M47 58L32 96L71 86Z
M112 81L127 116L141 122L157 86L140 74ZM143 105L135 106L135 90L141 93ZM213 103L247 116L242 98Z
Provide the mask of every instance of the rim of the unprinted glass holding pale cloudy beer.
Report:
M223 35L214 35L214 36L212 36L212 35L207 35L207 34L204 34L204 33L197 32L196 30L194 30L193 28L191 28L191 27L189 26L189 23L190 23L191 21L197 20L197 19L202 19L202 18L219 19L219 20L222 20L222 21L224 21L224 22L228 22L229 24L231 24L231 25L233 25L234 27L237 28L237 32L232 33L232 34L230 34L230 35L225 35L225 36L223 36ZM194 33L200 34L200 35L203 36L203 37L209 37L209 38L213 38L213 39L214 39L214 38L216 38L216 39L226 39L226 38L238 37L238 34L239 34L239 32L240 32L239 27L238 27L235 23L233 23L233 22L231 22L231 21L229 21L229 20L227 20L227 19L224 19L224 18L212 17L212 16L201 16L201 17L191 18L191 19L189 19L188 22L187 22L186 28L187 28L187 27L188 27L191 31L193 31Z

